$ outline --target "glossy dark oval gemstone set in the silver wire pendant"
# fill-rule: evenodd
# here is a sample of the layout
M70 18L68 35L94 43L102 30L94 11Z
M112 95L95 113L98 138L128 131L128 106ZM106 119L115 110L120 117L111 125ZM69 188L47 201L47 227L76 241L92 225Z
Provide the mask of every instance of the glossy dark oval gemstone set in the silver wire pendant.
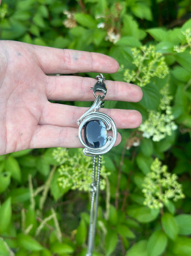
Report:
M91 148L100 148L107 142L106 125L101 120L92 120L84 125L84 140Z

